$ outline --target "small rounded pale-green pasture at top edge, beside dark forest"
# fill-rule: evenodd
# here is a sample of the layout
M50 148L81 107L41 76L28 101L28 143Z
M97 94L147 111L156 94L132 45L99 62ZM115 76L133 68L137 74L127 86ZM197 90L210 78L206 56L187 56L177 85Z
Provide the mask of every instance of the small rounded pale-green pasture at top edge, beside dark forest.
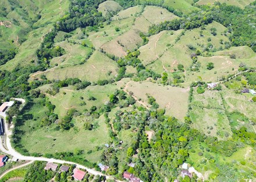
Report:
M105 1L99 4L98 11L102 12L103 16L106 16L107 13L118 12L122 9L122 6L115 1Z

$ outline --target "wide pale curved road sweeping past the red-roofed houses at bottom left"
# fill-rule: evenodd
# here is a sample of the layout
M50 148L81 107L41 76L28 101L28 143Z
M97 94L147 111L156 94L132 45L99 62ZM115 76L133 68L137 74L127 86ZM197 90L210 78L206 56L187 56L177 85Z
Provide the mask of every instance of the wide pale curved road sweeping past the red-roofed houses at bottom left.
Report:
M16 99L16 98L15 98ZM23 103L25 102L24 99L16 99L17 101L22 101ZM2 116L4 118L5 121L5 113L0 112L0 116ZM54 162L54 163L67 163L70 165L76 165L76 167L80 168L80 169L85 169L87 170L88 173L90 174L94 174L94 175L100 175L100 176L105 176L106 179L114 179L112 176L106 176L105 174L102 174L101 172L98 172L97 170L94 169L90 169L86 166L83 165L79 165L78 163L74 163L74 162L70 162L70 161L66 161L66 160L60 160L60 159L48 159L48 158L42 158L42 157L33 157L33 156L24 156L22 154L20 154L19 152L15 151L15 149L12 148L11 142L10 142L10 138L12 135L12 131L10 131L5 123L5 134L6 134L6 147L8 148L8 150L6 150L3 145L2 142L0 142L0 149L2 152L12 155L17 159L20 160L31 160L31 161L35 161L35 160L39 160L39 161L46 161L46 162ZM119 181L119 180L116 180ZM120 181L119 181L120 182Z

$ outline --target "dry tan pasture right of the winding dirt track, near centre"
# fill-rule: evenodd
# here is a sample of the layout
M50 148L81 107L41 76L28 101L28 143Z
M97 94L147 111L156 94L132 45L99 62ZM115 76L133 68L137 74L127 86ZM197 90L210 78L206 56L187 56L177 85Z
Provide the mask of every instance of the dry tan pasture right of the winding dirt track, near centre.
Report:
M152 82L132 82L128 84L127 91L131 91L137 98L141 98L148 105L146 94L152 95L159 104L159 108L166 110L166 115L184 120L187 112L187 99L189 90L184 88L162 86Z

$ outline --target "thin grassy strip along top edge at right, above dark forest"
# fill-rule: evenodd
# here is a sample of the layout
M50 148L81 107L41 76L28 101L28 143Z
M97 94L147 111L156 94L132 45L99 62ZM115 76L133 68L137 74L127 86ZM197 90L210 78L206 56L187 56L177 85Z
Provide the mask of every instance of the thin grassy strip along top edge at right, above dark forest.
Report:
M216 1L214 0L200 0L197 2L198 5L205 5L205 4L213 4ZM244 8L254 0L218 0L221 3L227 3L227 5L239 6L240 8Z

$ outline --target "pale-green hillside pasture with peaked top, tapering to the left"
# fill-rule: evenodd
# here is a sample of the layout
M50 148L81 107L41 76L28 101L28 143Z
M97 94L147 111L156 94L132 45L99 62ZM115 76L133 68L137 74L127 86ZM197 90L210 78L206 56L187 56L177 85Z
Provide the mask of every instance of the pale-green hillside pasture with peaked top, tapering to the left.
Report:
M83 65L56 68L52 72L44 73L49 80L63 80L65 78L80 78L80 80L98 81L116 75L116 62L103 53L95 51ZM108 72L111 71L111 75ZM37 76L40 76L38 74Z

